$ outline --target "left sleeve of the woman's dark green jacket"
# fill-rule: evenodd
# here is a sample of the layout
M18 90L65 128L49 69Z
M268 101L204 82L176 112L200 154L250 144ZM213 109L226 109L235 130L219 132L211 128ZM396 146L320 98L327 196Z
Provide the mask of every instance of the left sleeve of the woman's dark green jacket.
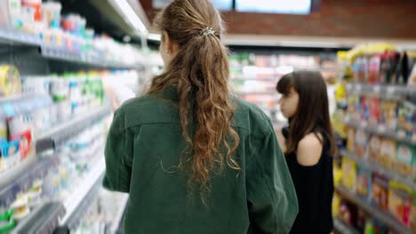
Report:
M106 173L103 186L110 191L130 191L132 175L132 144L124 125L123 107L114 114L114 119L108 131L107 144L104 151L106 158Z

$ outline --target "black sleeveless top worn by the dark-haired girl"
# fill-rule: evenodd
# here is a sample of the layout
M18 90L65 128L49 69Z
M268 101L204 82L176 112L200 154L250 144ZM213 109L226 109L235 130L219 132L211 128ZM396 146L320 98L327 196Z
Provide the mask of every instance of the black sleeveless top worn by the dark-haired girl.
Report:
M288 137L288 129L282 130ZM321 158L314 166L302 166L291 153L285 157L299 201L299 214L293 223L292 234L328 234L333 229L332 220L332 156L328 141L324 140Z

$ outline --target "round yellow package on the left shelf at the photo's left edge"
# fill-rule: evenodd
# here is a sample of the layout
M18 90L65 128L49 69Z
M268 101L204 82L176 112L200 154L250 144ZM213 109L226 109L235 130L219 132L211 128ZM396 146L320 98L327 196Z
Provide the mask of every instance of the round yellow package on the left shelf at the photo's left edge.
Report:
M12 65L0 66L0 97L21 92L19 70Z

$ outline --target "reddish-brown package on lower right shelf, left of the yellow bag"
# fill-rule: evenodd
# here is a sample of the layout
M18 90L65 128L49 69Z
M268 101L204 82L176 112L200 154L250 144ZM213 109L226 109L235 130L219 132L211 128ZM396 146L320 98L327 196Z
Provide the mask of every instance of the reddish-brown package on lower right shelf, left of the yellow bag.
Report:
M383 175L372 175L372 204L383 210L388 209L388 179Z

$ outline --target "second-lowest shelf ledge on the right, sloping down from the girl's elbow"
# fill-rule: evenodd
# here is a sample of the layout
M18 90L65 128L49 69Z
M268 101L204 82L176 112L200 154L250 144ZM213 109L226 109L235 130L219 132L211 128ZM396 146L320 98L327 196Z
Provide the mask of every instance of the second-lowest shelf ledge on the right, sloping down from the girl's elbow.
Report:
M404 175L400 175L400 174L398 174L398 173L396 173L392 170L389 170L387 168L383 168L375 162L360 158L353 152L348 152L346 150L342 150L342 151L340 151L340 154L344 157L347 157L350 160L356 161L356 164L360 165L360 167L368 168L372 172L378 173L380 175L385 175L390 180L395 180L399 183L403 183L403 184L409 186L410 188L413 188L414 190L416 190L416 183L412 181L412 178L406 177Z

